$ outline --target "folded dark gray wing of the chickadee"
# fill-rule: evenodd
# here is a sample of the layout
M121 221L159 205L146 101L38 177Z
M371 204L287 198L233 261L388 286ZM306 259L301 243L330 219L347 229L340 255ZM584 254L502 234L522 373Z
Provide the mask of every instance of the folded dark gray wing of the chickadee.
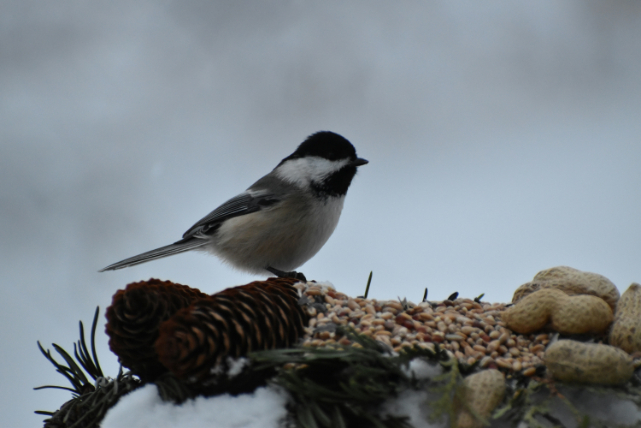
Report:
M183 234L183 239L207 235L216 231L220 223L232 217L251 214L278 203L280 199L266 191L252 191L237 195L201 218Z

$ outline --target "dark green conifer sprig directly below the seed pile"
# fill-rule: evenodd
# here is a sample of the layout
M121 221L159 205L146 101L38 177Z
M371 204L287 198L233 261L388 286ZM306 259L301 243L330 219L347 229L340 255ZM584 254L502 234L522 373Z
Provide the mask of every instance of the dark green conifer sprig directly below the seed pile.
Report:
M337 333L360 346L281 349L251 355L256 367L280 367L271 382L292 397L290 424L301 428L409 427L405 417L381 416L378 406L408 388L421 388L407 371L412 359L422 357L439 364L449 360L447 354L439 348L413 348L393 356L367 336L341 328Z

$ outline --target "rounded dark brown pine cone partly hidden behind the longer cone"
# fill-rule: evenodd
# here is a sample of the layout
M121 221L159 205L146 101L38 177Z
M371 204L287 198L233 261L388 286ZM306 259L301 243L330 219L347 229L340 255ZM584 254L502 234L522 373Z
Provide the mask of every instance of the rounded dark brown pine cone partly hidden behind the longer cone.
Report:
M167 371L154 349L160 324L203 297L207 294L186 285L153 278L127 285L107 308L109 347L143 381L155 379Z

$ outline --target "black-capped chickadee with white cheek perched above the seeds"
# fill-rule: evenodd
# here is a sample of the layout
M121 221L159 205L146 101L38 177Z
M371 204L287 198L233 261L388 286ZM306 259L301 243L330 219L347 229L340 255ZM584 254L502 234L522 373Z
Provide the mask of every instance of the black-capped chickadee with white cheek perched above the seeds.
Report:
M334 232L356 168L366 163L345 138L317 132L272 172L194 224L181 240L100 272L201 250L240 270L305 280L294 269Z

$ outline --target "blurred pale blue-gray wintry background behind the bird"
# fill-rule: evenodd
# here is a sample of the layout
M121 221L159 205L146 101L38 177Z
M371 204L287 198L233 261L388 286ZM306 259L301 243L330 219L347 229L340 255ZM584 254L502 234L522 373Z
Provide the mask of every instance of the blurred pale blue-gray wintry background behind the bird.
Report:
M322 3L322 4L321 4ZM247 283L178 239L307 135L370 160L301 269L350 295L507 301L570 265L641 281L640 2L0 2L0 414L37 426L125 284ZM102 324L102 323L101 323ZM105 371L117 363L99 335Z

